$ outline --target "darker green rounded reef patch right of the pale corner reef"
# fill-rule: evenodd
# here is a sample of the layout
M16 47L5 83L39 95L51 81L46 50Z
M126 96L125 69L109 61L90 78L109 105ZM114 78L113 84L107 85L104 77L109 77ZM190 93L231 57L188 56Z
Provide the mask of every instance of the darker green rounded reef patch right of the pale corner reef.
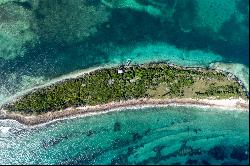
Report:
M41 0L35 11L40 40L50 45L73 45L84 41L108 19L101 4L81 0Z

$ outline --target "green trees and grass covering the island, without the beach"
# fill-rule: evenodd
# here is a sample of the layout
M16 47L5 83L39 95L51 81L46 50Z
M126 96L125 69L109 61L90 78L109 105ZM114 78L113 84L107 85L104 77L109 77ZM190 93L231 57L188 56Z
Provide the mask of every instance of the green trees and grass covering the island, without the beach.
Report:
M171 67L166 64L93 71L30 92L3 106L9 111L41 114L134 98L246 98L242 87L223 73Z

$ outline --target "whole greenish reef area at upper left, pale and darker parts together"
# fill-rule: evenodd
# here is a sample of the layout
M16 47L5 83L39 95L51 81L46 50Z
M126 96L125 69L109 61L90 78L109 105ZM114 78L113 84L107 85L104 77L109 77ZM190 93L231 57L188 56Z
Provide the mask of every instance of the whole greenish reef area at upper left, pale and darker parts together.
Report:
M97 31L108 11L88 1L0 1L0 58L14 59L40 44L72 45Z

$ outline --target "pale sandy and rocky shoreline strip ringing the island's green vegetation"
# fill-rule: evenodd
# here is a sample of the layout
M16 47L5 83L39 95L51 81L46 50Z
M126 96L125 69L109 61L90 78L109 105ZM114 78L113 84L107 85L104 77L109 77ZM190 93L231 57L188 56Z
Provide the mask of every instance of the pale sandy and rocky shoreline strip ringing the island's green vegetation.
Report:
M53 111L45 111L41 114L25 114L24 112L19 111L9 111L4 106L0 108L0 119L13 119L17 120L20 123L23 123L28 126L34 126L38 124L47 123L53 120L58 120L62 118L70 118L73 116L79 116L79 115L87 115L92 113L101 113L103 111L110 112L114 109L126 109L130 107L160 107L160 106L168 106L168 105L184 105L184 106L198 106L198 107L219 107L219 108L229 108L229 109L240 109L240 110L247 110L249 111L249 103L248 103L248 91L246 88L240 83L240 79L238 79L234 74L225 72L219 69L213 69L213 68L204 68L204 67L186 67L186 66L178 66L171 63L166 62L150 62L148 64L140 64L136 65L138 67L146 67L146 66L168 66L171 70L183 70L183 71L198 71L198 72L206 72L211 71L213 73L223 73L225 77L228 80L234 80L237 82L241 88L243 89L244 93L247 93L247 98L241 99L237 97L230 97L229 99L216 99L213 96L210 96L208 98L196 98L196 97L173 97L173 98L149 98L149 97L141 97L141 98L132 98L132 99L120 99L120 100L114 100L112 102L107 102L106 104L97 103L95 105L78 105L74 107L65 107L61 108L60 110L53 110ZM127 68L129 68L130 65L109 65L109 66L99 66L96 68L90 68L87 70L78 71L66 76L63 76L61 78L57 78L50 83L47 83L45 85L30 89L26 92L23 92L22 94L18 94L12 99L9 100L9 102L16 102L22 98L22 96L27 95L28 93L33 93L36 90L46 88L48 86L56 86L57 84L64 83L67 80L70 79L77 79L84 77L85 74L91 74L96 73L98 71L104 70L104 69L118 69L121 71L125 71ZM7 102L6 104L8 104Z

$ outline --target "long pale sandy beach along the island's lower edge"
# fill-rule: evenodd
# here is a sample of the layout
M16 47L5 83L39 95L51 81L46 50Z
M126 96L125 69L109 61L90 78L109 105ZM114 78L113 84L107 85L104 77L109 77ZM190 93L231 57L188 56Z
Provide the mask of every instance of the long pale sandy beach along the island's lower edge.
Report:
M120 109L132 107L163 107L163 106L197 106L205 108L220 108L226 110L249 111L249 102L243 99L133 99L120 102L111 102L96 106L69 107L65 110L48 112L37 116L24 116L18 113L10 113L6 110L0 111L0 119L13 119L27 126L34 126L50 121L78 117L83 115L93 115L107 113Z

